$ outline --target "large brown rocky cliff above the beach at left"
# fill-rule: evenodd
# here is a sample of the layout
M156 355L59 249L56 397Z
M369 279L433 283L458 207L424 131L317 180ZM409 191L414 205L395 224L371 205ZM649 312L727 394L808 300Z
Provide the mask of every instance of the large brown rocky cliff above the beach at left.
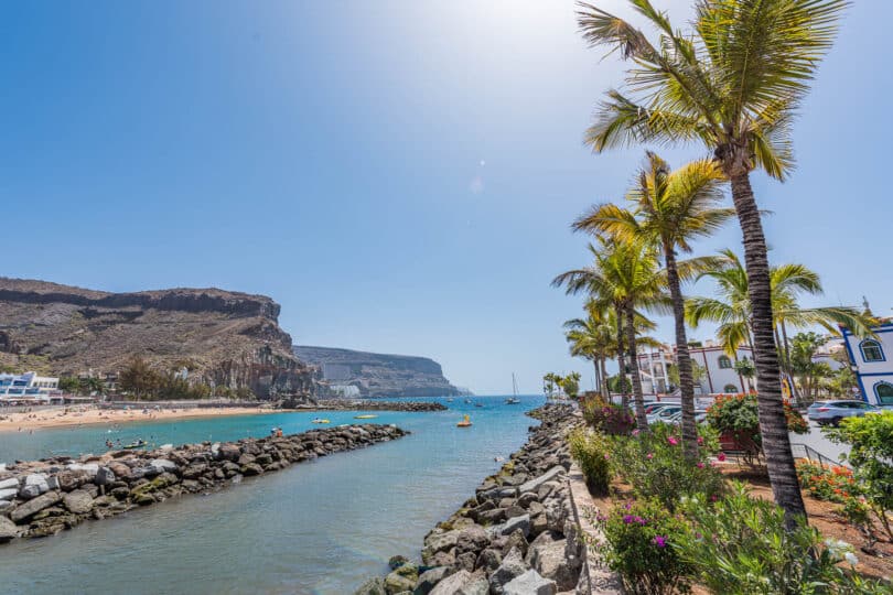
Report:
M0 365L56 375L117 372L139 355L160 370L261 398L310 396L279 304L218 289L107 293L0 278Z

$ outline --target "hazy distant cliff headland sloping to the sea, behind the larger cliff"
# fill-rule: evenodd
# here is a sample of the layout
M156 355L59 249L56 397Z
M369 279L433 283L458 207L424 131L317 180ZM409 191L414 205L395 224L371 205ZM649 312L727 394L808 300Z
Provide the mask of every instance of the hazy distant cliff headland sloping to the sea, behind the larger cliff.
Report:
M370 354L330 347L294 347L301 360L319 366L330 385L359 389L362 397L440 397L460 390L427 357Z

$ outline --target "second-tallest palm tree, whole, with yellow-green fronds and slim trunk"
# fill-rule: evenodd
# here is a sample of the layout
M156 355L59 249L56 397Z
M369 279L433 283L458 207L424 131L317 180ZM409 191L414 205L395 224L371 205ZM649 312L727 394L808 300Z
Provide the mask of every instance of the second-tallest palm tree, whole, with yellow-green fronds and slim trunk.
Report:
M676 171L655 153L647 152L647 164L638 172L636 184L626 194L631 209L614 204L593 207L577 219L578 230L607 234L620 240L641 238L663 252L667 286L673 301L676 329L677 367L682 405L682 446L693 457L698 452L695 421L695 381L686 336L678 252L690 252L691 240L713 234L734 216L720 206L722 172L710 160L693 161Z

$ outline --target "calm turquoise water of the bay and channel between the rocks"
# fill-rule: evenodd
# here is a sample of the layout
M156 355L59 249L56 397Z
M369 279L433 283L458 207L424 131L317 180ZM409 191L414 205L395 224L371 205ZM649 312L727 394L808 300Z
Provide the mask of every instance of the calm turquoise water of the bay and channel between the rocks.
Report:
M175 498L72 531L0 547L3 593L349 594L387 559L416 556L424 534L495 472L536 424L523 397L456 398L449 411L372 412L412 435L266 477L209 496ZM458 429L464 413L474 425ZM332 425L359 412L327 412ZM240 415L123 425L112 440L154 436L158 444L263 436L318 428L316 413ZM51 452L103 452L107 428L0 434L0 461Z

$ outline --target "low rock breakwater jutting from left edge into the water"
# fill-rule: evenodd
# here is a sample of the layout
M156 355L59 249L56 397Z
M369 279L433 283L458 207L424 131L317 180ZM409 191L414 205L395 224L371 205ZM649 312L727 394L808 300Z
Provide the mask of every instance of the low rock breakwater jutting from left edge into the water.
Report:
M281 437L203 442L153 451L110 451L0 468L0 543L44 537L182 494L405 436L396 425L361 424Z

